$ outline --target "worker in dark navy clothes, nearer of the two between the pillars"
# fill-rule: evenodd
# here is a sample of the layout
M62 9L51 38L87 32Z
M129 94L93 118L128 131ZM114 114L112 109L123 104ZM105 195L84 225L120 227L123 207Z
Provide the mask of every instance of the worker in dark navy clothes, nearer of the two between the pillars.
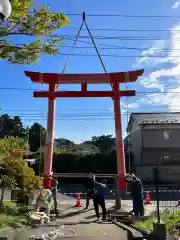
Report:
M105 184L96 182L95 176L93 176L93 182L95 186L93 203L94 203L94 210L97 216L97 220L100 219L99 206L102 208L102 220L105 220L106 219L105 196L109 192L109 189Z

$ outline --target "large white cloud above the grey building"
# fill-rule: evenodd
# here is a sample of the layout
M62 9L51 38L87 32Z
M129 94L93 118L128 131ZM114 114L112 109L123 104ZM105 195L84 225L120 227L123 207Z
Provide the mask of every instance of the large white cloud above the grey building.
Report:
M143 75L140 83L148 89L157 89L161 93L149 94L147 97L140 99L141 103L145 102L152 107L156 105L167 107L170 111L180 110L180 23L171 29L169 41L154 42L147 51L141 53L138 64L146 64L147 67L155 67L156 71L149 72ZM165 45L169 46L169 52L166 55L162 49ZM178 50L179 49L179 50ZM157 54L158 53L158 54ZM152 58L149 56L164 56ZM146 67L145 67L146 69ZM162 93L168 92L168 93ZM179 93L179 94L178 94Z

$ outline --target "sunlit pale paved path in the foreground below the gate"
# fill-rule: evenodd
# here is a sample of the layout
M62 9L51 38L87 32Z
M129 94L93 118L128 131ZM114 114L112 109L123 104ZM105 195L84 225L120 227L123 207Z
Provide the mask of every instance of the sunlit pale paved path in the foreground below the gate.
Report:
M112 205L112 204L111 204ZM83 208L72 208L67 210L63 215L58 219L58 223L64 224L64 228L60 229L61 233L64 233L64 237L72 237L75 240L83 239L121 239L127 240L127 233L122 229L118 228L114 224L105 221L105 222L96 222L94 216L94 210L91 208L84 211ZM8 237L8 240L28 240L31 235L37 233L50 232L52 226L44 226L39 228L23 228L19 230L6 230L0 232L0 237ZM54 227L56 229L59 226ZM72 229L70 231L70 229ZM76 235L74 235L74 233Z

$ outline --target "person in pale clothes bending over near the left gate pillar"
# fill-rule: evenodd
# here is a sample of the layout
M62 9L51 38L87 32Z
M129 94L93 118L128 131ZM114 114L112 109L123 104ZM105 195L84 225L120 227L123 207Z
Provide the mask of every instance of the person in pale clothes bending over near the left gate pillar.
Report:
M44 209L44 212L49 217L52 203L52 192L49 189L40 188L39 195L36 199L36 211Z

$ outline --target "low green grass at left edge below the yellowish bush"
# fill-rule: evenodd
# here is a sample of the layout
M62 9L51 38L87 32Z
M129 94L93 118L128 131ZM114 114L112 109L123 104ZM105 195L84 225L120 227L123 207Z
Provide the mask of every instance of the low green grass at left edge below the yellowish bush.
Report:
M0 208L0 229L5 227L19 227L25 220L26 215L19 213L15 202L3 202L3 206Z

